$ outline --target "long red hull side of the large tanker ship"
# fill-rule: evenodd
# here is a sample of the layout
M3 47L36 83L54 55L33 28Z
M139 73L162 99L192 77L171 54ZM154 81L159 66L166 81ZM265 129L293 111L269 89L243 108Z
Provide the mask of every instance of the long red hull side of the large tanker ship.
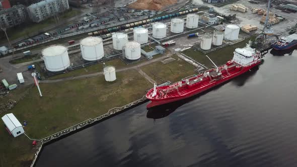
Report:
M204 91L207 91L213 87L216 87L218 85L221 85L223 84L224 82L228 81L228 80L231 80L232 78L235 78L245 72L247 72L248 70L254 68L255 66L258 66L259 64L261 63L261 61L251 65L251 66L248 66L248 67L244 67L242 70L240 70L239 72L237 73L234 73L233 75L229 76L229 77L225 77L225 78L222 78L220 80L216 80L213 82L213 84L210 84L204 88L201 88L199 90L196 90L195 92L193 93L190 93L190 94L187 94L187 95L183 95L183 96L178 96L178 97L174 97L174 98L170 98L170 99L150 99L148 98L149 100L151 100L152 102L149 103L146 108L152 108L152 107L155 107L155 106L160 106L160 105L164 105L164 104L168 104L168 103L173 103L173 102L176 102L176 101L180 101L180 100L183 100L183 99L187 99L187 98L190 98L192 96L195 96L195 95L198 95Z

